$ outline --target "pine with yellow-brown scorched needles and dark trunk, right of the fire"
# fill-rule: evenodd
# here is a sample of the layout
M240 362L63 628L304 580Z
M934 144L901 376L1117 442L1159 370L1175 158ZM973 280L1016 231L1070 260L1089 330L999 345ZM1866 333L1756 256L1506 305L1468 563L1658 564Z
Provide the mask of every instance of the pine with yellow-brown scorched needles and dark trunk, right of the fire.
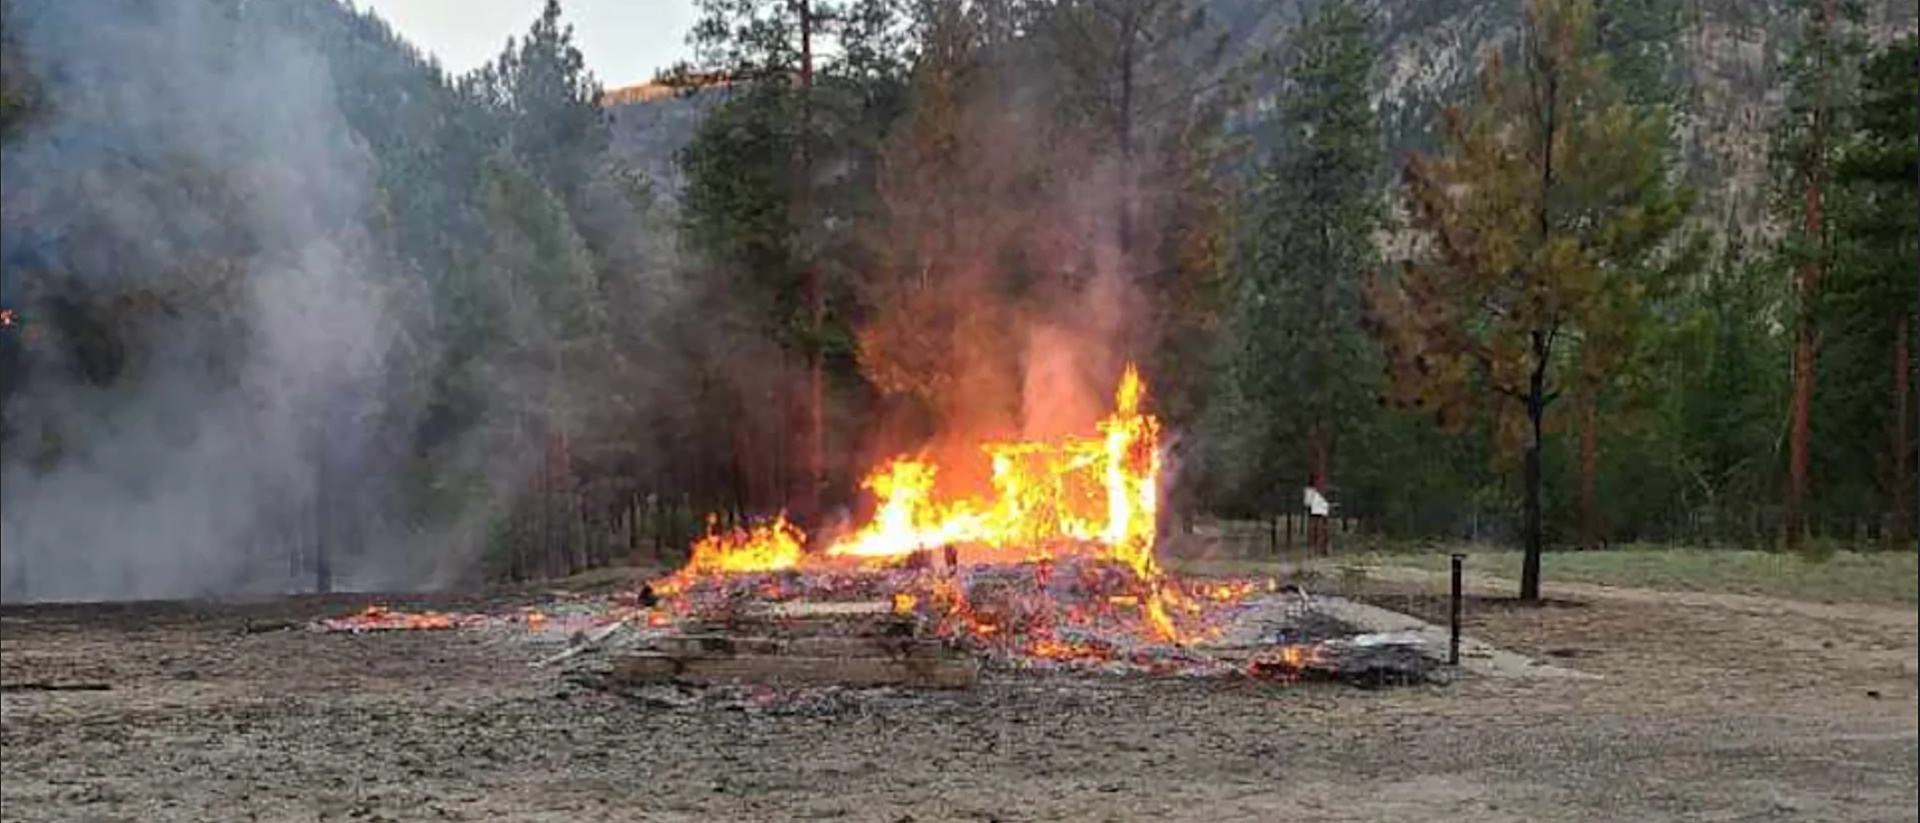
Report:
M1542 434L1563 393L1561 345L1645 322L1649 280L1688 198L1667 182L1667 119L1628 106L1594 50L1592 4L1526 4L1517 63L1490 58L1478 100L1450 109L1438 157L1415 155L1405 201L1425 242L1367 297L1390 399L1446 426L1490 412L1524 455L1521 599L1540 599Z

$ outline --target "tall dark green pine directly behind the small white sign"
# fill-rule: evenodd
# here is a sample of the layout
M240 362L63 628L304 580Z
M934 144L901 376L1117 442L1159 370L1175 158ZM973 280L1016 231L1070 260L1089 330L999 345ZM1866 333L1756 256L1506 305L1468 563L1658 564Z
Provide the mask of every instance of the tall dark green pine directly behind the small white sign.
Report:
M1380 224L1380 129L1369 88L1369 21L1321 6L1288 40L1277 106L1284 129L1258 173L1235 249L1231 395L1263 489L1332 483L1340 428L1371 405L1361 274Z

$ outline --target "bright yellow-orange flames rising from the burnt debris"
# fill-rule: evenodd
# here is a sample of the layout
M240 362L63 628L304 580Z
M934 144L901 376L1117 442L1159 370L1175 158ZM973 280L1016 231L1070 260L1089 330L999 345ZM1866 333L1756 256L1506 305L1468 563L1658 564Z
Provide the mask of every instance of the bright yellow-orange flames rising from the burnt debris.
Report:
M1162 585L1154 558L1160 420L1144 403L1146 382L1127 364L1114 411L1092 435L983 443L991 487L977 495L941 489L939 466L924 455L895 457L860 483L876 501L872 520L812 553L808 537L785 518L724 533L710 522L687 566L657 589L678 593L699 576L718 574L893 566L933 549L947 549L950 556L964 553L968 562L1091 554L1125 566L1144 583L1140 616L1160 637L1171 639L1171 612L1181 600ZM933 600L941 602L941 593L933 593ZM954 610L954 604L943 606ZM998 629L989 622L975 631Z

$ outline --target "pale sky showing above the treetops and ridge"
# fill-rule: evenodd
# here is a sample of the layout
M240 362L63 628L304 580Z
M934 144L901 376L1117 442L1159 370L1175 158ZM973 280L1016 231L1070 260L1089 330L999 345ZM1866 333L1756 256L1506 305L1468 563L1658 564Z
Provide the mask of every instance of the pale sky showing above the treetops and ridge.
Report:
M524 35L545 0L361 0L447 71L493 59L509 36ZM607 88L647 82L684 59L693 0L561 0L574 44Z

